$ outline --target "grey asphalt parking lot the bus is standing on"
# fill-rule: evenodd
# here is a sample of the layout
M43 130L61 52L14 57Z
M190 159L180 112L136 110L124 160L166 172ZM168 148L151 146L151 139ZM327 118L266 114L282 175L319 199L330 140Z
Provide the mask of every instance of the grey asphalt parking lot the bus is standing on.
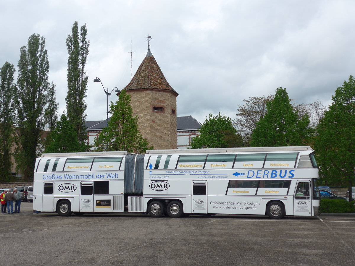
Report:
M4 265L354 265L355 216L1 214Z

